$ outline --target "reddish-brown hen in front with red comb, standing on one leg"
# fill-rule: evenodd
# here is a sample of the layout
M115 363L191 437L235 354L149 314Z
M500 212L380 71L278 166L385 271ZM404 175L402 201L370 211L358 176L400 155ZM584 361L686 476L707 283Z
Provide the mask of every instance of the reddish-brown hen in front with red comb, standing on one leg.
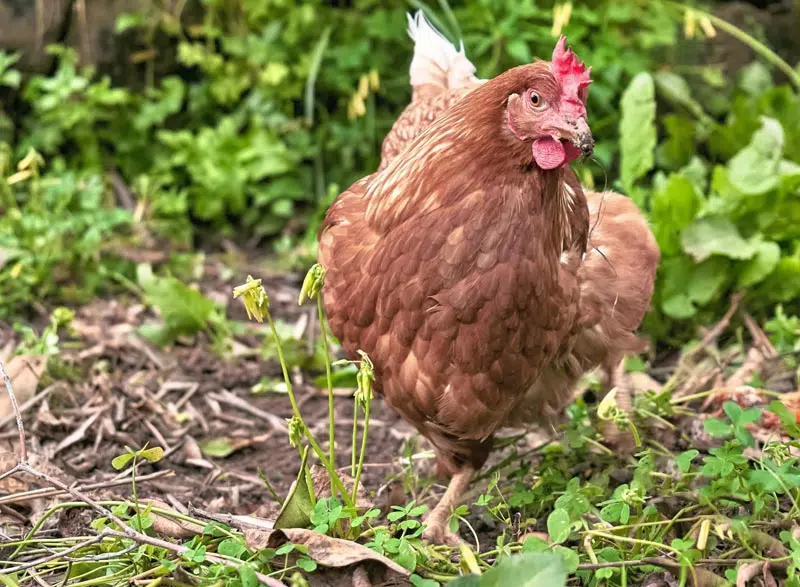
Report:
M543 369L579 329L589 214L569 162L591 152L589 72L565 49L468 92L320 229L331 330L433 444L447 519ZM538 417L538 416L536 416Z

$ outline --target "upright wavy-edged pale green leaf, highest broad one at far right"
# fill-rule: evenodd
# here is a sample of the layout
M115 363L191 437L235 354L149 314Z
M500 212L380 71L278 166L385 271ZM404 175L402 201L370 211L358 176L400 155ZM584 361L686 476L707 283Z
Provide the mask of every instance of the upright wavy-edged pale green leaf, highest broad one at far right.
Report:
M744 149L728 161L728 180L746 195L764 194L778 187L783 153L783 127L774 118L762 117L761 128Z

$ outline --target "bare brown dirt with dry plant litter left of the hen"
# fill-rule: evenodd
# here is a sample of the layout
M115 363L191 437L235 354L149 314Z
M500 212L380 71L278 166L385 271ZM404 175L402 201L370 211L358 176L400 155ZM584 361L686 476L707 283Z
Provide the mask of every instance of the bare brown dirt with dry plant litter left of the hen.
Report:
M231 298L243 277L222 280L211 269L201 289L213 299L229 300L228 318L241 321L247 331L235 337L233 356L223 359L204 334L163 349L149 343L136 329L155 316L133 298L97 299L78 308L72 336L62 337L58 367L52 369L51 362L50 375L40 382L35 397L19 398L28 450L36 462L47 463L67 482L96 487L98 497L114 499L129 496L130 483L129 474L114 470L112 459L126 446L161 446L165 458L140 472L140 498L158 498L179 509L274 517L278 504L259 471L281 496L297 475L300 461L285 431L291 406L285 393L252 393L263 378L280 378L280 365L259 353L266 325L249 323L241 304ZM273 316L307 337L317 328L316 310L297 305L301 279L267 277L264 286ZM11 328L4 328L0 347L13 348L16 338ZM327 438L327 394L314 385L312 375L317 374L295 369L295 392L315 435ZM343 469L349 463L352 391L336 390L337 464ZM401 470L397 457L412 434L410 426L375 398L363 482L376 505L388 504L392 495L398 499L398 483L393 482ZM6 418L0 429L0 470L13 465L17 450L16 428ZM118 482L123 478L127 480ZM13 508L5 506L2 489L36 488L25 482L0 487L4 526L27 526L31 512L26 510L43 503L17 499ZM400 492L399 502L404 503L402 483Z

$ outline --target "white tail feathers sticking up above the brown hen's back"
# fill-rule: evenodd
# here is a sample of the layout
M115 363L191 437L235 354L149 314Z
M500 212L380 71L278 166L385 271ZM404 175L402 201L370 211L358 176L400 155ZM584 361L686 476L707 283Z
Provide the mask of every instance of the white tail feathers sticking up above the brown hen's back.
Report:
M433 84L442 89L460 88L475 83L475 66L425 19L422 10L408 17L408 36L414 41L411 60L411 85Z

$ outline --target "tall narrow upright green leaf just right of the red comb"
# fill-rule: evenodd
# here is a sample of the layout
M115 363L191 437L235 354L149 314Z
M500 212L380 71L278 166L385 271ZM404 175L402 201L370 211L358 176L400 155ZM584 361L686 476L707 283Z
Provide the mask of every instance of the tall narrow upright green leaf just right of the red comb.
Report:
M650 74L642 72L631 80L622 94L620 108L620 175L623 187L630 191L654 164L656 101Z

